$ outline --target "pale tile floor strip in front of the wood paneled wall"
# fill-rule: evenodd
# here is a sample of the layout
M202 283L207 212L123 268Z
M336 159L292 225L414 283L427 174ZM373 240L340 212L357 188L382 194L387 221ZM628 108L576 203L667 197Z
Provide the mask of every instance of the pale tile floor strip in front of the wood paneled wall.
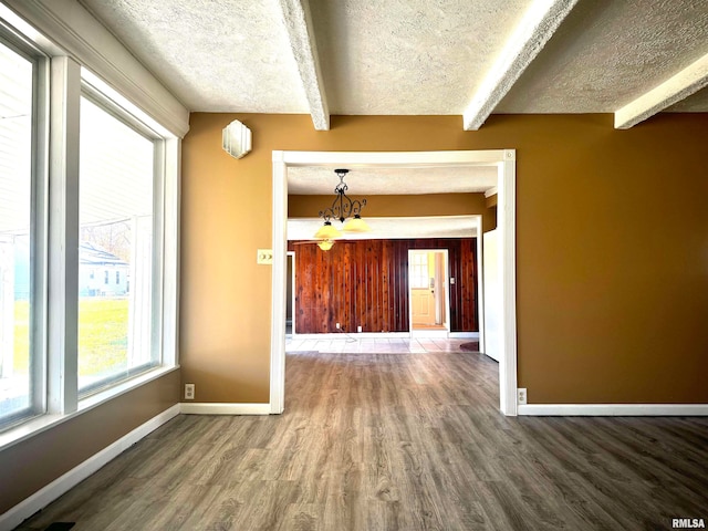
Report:
M407 339L407 337L356 337L342 334L342 339L285 339L285 352L326 352L326 353L377 353L377 354L425 354L428 352L464 352L462 343L471 339Z

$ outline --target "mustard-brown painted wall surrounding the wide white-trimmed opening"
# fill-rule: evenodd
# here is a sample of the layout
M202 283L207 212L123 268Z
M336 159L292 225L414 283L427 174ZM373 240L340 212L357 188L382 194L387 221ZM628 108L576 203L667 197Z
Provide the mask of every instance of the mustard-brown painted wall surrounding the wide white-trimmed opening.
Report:
M253 152L221 150L233 118ZM705 115L195 113L184 142L181 363L198 402L268 402L271 153L517 149L519 385L531 403L707 403Z

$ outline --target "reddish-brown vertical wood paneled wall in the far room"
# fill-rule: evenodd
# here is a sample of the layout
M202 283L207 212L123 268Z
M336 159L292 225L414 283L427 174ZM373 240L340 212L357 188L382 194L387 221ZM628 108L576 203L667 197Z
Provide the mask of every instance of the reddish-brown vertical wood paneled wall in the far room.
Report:
M295 251L295 332L408 332L408 250L447 249L450 330L477 332L475 238L340 241L324 252L289 242Z

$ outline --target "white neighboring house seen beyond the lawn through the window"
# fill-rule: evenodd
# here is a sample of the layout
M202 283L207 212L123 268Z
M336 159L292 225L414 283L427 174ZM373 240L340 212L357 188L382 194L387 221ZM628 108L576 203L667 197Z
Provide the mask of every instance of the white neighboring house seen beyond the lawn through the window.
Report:
M79 248L79 294L119 296L128 292L128 263L115 254L83 242Z

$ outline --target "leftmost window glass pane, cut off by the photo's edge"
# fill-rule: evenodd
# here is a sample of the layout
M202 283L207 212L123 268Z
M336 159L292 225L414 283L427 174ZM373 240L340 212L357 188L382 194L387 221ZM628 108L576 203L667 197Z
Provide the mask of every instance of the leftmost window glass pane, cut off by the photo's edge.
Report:
M0 43L0 424L32 404L33 63Z

